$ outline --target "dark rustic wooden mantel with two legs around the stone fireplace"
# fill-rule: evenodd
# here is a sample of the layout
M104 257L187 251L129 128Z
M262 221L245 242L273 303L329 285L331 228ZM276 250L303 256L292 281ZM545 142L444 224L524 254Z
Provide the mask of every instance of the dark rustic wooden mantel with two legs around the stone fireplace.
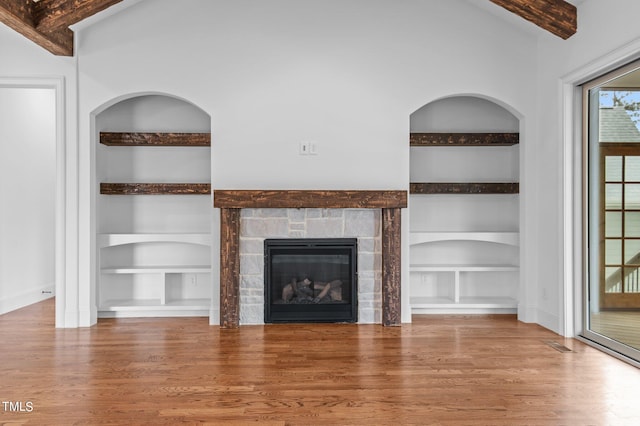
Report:
M220 326L240 325L242 209L380 209L381 322L400 325L400 209L406 206L406 191L215 190L214 207L220 208Z

